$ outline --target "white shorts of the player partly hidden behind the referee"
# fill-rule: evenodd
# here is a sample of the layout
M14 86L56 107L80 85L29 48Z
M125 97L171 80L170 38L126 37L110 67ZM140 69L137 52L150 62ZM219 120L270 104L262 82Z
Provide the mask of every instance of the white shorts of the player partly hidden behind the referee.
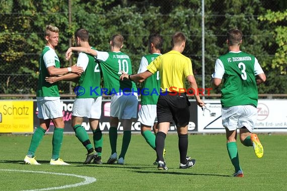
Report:
M158 122L157 105L142 105L138 111L138 120L141 124L154 126Z

